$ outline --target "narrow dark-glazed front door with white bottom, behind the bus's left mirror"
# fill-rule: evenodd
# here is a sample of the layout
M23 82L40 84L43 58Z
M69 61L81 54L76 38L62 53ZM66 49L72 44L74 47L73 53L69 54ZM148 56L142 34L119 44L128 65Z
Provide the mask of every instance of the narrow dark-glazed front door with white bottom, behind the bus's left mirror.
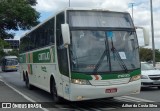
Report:
M65 22L64 12L56 16L56 45L57 45L57 59L59 65L59 72L62 79L63 97L69 100L69 67L67 48L63 47L61 24Z

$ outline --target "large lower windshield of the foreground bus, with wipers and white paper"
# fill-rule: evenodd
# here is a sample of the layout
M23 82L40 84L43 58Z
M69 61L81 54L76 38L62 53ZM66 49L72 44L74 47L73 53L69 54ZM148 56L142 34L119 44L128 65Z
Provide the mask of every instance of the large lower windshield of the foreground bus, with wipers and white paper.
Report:
M116 72L140 67L133 31L71 31L71 68L74 72Z

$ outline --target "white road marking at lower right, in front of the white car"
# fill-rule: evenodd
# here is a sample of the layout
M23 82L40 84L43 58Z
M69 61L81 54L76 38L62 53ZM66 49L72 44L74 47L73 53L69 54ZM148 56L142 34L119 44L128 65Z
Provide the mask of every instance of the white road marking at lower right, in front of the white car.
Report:
M131 100L131 101L135 101L135 102L155 102L155 101L151 101L151 100L146 100L146 99L142 99L142 98L136 98L136 97L131 97L131 96L121 96L121 97L117 97L118 99L127 99L127 100Z

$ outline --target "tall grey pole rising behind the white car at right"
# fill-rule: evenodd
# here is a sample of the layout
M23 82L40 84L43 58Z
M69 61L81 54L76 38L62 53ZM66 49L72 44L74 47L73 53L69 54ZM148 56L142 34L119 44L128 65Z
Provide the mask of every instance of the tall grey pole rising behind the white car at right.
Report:
M151 30L152 30L152 53L153 53L153 66L155 67L155 44L154 44L154 26L153 26L153 9L152 9L152 0L150 0L150 9L151 9Z

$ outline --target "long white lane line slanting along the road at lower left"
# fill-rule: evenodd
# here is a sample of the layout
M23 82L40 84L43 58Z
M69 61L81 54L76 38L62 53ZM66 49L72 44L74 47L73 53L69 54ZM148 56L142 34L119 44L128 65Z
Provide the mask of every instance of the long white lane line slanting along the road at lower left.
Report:
M36 103L36 101L34 101L33 99L29 98L28 96L24 95L22 92L18 91L17 89L15 89L14 87L10 86L8 83L6 83L5 81L3 81L2 79L0 79L0 81L4 82L8 87L10 87L12 90L14 90L15 92L17 92L18 94L20 94L21 96L23 96L25 99L27 99L30 102ZM43 111L49 111L46 108L40 108Z

